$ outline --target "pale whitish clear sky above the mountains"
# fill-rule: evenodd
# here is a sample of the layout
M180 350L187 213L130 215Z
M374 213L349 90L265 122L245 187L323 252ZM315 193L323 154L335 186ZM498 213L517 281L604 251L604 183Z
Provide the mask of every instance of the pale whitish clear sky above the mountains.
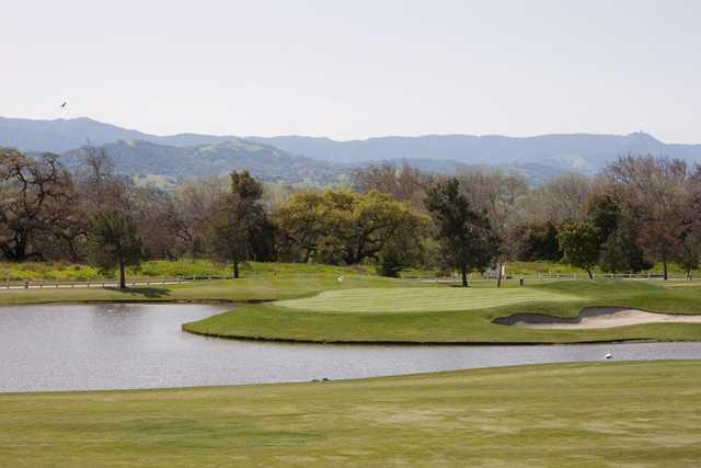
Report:
M701 142L696 0L23 0L2 16L5 117Z

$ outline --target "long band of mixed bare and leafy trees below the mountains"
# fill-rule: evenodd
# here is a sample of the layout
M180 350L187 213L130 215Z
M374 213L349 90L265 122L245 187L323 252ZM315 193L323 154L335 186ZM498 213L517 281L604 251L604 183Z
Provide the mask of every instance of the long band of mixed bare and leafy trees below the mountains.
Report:
M66 260L117 269L146 259L212 258L239 277L248 260L472 271L509 261L564 261L636 273L701 255L701 170L623 157L597 176L566 173L530 187L519 173L455 176L407 164L354 172L348 187L271 191L246 171L138 186L99 149L68 171L54 155L0 149L0 259Z

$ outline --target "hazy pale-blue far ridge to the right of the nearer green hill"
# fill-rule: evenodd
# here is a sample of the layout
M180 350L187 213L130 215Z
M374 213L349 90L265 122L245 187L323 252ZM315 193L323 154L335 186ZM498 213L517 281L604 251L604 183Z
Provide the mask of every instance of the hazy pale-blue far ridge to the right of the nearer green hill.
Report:
M701 160L701 145L668 145L644 133L553 134L535 137L425 135L350 141L300 136L249 139L310 158L336 162L387 159L448 159L470 164L537 162L590 172L628 153Z

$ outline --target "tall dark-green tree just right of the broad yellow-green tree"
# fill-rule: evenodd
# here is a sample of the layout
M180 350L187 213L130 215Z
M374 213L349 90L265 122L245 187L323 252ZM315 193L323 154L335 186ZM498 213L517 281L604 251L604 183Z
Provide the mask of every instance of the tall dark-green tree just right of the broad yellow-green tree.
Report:
M444 261L460 271L467 287L468 273L490 265L498 252L486 215L472 207L457 179L430 187L425 203L437 228Z

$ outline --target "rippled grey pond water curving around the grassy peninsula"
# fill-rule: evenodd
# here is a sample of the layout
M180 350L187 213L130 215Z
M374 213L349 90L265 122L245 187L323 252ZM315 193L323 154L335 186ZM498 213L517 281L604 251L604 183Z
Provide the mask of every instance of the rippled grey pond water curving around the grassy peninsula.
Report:
M211 339L183 322L231 306L0 307L0 391L304 381L514 364L701 358L701 343L317 345Z

